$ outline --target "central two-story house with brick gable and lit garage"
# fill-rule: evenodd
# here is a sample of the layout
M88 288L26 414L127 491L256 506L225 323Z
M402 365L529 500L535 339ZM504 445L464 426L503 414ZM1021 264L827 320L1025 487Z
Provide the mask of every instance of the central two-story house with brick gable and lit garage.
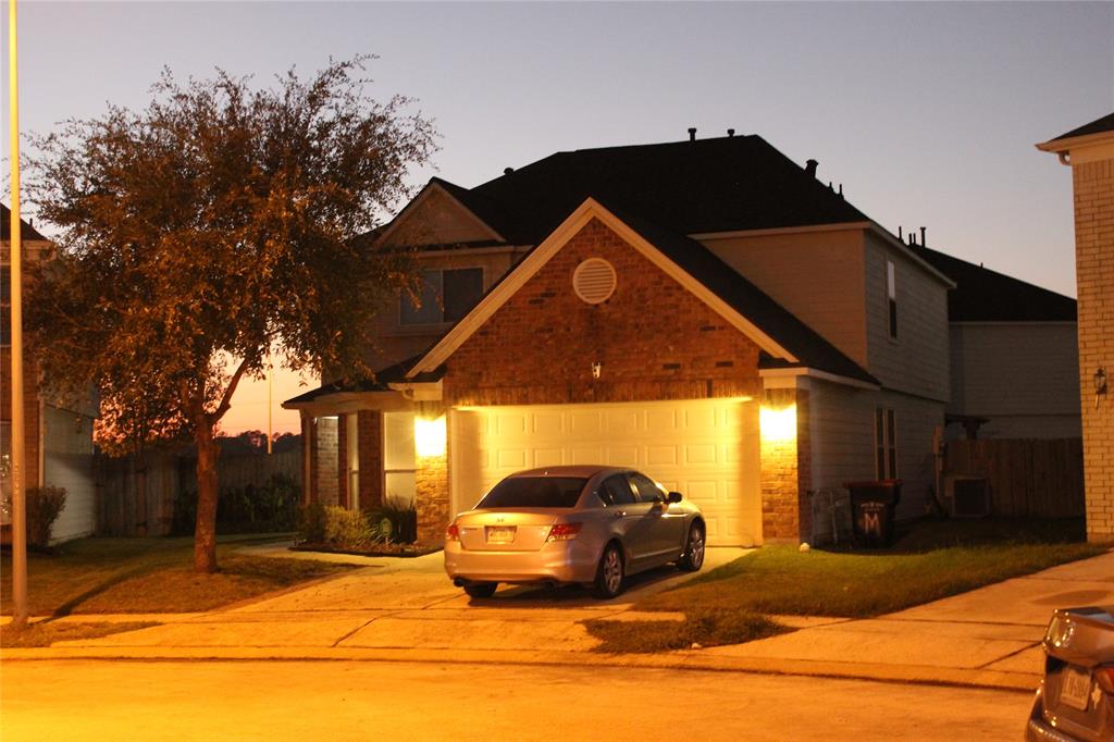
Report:
M810 490L903 480L925 512L952 282L758 136L559 153L434 178L377 236L427 290L374 381L289 400L310 499L413 499L423 540L526 467L635 466L711 544L798 541Z

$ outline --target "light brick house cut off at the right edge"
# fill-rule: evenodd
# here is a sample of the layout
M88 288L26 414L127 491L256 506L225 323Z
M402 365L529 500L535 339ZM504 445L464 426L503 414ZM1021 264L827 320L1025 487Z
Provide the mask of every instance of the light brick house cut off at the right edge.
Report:
M1087 538L1114 539L1114 113L1037 145L1072 166Z

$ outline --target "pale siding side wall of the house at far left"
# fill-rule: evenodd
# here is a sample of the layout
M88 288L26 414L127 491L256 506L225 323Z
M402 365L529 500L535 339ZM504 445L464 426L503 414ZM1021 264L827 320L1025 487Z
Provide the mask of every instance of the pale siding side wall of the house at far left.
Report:
M66 508L55 521L51 538L65 541L88 536L97 527L92 419L49 404L43 407L42 419L42 482L66 488Z

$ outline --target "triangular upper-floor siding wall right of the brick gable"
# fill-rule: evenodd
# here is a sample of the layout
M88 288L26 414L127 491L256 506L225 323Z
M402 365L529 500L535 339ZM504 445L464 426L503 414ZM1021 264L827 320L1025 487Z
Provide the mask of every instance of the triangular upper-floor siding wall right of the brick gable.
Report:
M861 365L862 230L704 240L704 245Z

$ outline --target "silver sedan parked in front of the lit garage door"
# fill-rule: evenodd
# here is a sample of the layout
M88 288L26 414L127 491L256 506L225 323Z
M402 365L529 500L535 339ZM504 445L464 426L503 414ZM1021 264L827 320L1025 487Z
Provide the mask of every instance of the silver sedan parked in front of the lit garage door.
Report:
M578 583L610 598L652 567L700 569L706 533L698 507L633 469L530 469L449 524L444 570L472 597L499 583Z

